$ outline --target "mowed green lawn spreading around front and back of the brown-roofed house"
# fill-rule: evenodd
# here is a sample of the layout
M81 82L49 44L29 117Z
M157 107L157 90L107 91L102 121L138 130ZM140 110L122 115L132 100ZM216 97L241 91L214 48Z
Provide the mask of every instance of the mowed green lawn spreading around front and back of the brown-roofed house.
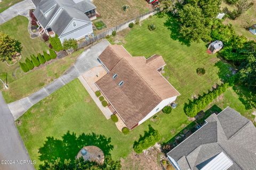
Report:
M177 100L178 107L170 115L159 112L159 121L148 120L130 134L124 135L111 120L106 120L76 79L30 108L20 118L21 125L17 124L30 158L37 160L36 168L42 163L39 162L38 149L44 145L46 137L60 139L67 131L77 135L92 132L102 134L111 138L114 149L110 153L113 158L120 159L132 152L133 142L138 140L140 134L143 135L143 131L148 130L149 124L161 133L161 142L167 142L191 123L183 112L184 104L194 95L207 92L215 83L227 78L227 74L230 74L229 65L215 55L208 55L205 43L193 43L187 47L173 40L171 31L164 26L166 19L166 16L153 16L141 26L136 25L125 37L124 46L133 56L159 54L164 57L167 64L164 76L181 94ZM155 31L147 29L149 23L156 25ZM206 74L197 75L197 67L204 67ZM223 109L230 105L242 114L249 112L234 90L228 90L223 96L211 106L218 104Z

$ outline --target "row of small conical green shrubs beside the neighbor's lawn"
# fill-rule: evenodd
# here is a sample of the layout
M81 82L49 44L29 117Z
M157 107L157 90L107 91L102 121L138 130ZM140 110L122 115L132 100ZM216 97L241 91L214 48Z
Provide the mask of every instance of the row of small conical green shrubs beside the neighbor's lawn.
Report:
M30 59L27 57L25 63L19 62L21 70L26 73L29 70L33 70L34 67L38 67L40 64L44 64L46 61L55 59L57 54L52 49L49 51L50 55L46 52L43 52L44 55L38 54L37 57L35 55L30 55Z

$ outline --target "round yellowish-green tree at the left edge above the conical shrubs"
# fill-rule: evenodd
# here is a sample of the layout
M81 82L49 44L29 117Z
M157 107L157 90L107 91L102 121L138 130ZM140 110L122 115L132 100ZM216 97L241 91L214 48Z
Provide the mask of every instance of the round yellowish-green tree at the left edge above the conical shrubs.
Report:
M12 60L22 50L21 43L6 33L0 32L0 60Z

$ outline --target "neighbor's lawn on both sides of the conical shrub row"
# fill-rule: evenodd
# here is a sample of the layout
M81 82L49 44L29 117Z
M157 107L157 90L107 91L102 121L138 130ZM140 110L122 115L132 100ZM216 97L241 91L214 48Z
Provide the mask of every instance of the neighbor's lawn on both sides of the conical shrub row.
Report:
M20 41L22 45L20 62L25 62L26 57L30 57L31 54L36 56L38 53L43 54L44 50L49 49L46 43L40 38L31 39L27 29L28 19L25 16L17 16L0 25L0 31ZM28 73L24 73L20 69L18 62L11 66L8 66L5 62L0 62L0 72L7 72L8 75L9 89L3 89L3 96L6 102L10 103L22 97L27 97L39 88L42 88L45 84L58 78L75 62L76 57L82 52L83 49L80 49L71 56L67 56L61 60L55 60L51 64L41 66ZM1 74L0 76L3 79L5 78L5 74Z

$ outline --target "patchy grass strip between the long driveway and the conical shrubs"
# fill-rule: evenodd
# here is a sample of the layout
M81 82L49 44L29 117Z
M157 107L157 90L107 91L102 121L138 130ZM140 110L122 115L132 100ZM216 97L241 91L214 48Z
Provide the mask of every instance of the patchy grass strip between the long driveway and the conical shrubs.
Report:
M9 89L3 89L2 91L5 101L11 103L12 101L27 97L54 79L59 78L82 52L83 49L79 49L70 56L55 60L49 65L28 73L24 73L19 69L16 72L19 79L9 83Z

